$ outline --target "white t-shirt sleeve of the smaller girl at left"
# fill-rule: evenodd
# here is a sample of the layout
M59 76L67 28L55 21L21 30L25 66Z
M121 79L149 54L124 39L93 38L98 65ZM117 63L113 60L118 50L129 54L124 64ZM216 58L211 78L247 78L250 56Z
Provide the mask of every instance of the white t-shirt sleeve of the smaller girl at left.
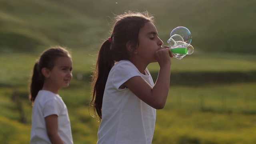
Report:
M61 110L62 110L62 105L58 101L57 98L52 98L48 102L44 104L44 110L43 110L43 115L44 117L50 116L52 114L56 114L59 116Z

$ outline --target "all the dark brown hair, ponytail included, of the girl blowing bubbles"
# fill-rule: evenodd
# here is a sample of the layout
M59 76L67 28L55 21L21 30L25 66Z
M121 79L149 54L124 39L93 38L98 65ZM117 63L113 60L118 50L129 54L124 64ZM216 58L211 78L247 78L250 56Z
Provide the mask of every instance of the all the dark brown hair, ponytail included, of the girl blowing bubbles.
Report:
M125 12L116 16L112 28L111 40L102 43L98 52L98 60L92 75L92 100L89 104L102 119L103 93L108 79L108 74L115 62L128 60L130 55L126 49L127 42L131 42L134 50L139 45L138 35L146 22L154 22L154 17L148 12ZM96 116L97 117L97 116ZM98 118L98 117L97 117Z

